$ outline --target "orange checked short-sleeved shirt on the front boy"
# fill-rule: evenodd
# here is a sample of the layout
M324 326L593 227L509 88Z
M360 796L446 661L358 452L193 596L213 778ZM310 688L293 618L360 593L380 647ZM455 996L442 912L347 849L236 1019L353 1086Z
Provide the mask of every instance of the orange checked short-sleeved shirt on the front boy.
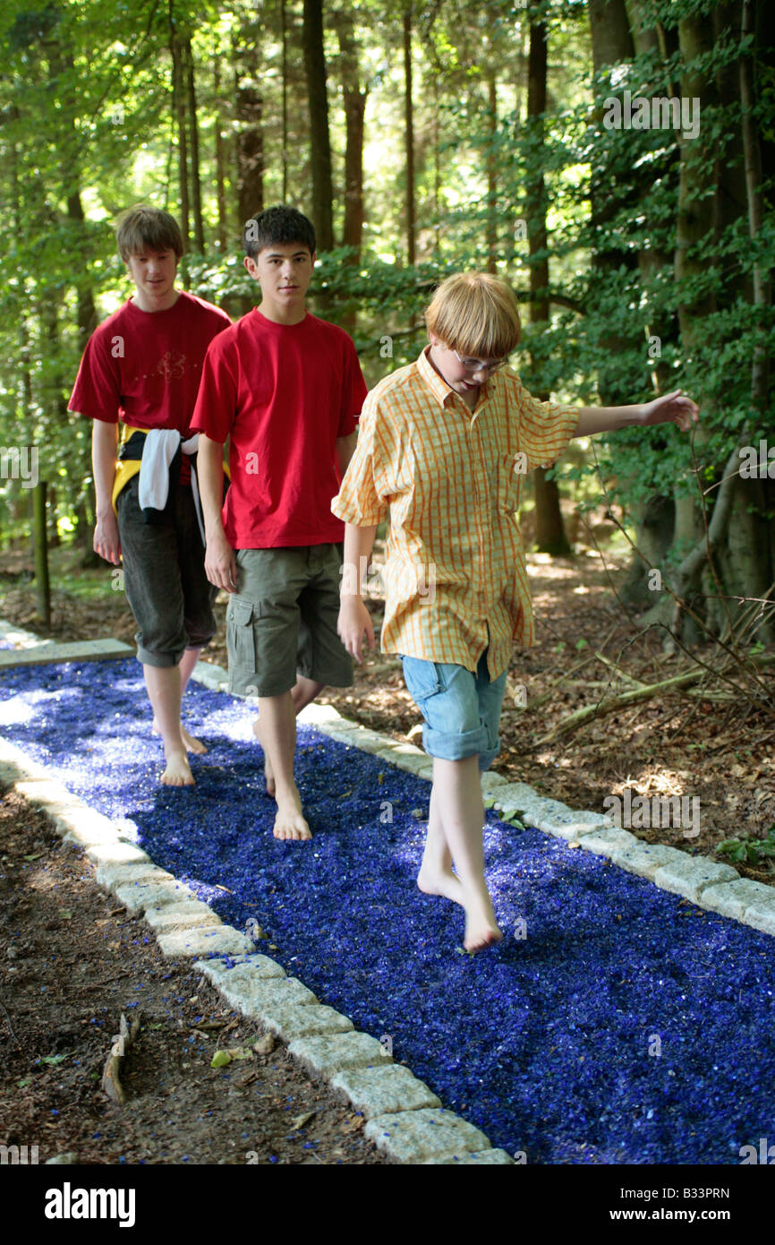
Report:
M510 367L470 411L428 349L368 395L331 509L357 527L389 515L382 650L475 671L489 647L493 680L535 644L521 482L562 453L578 411L539 402Z

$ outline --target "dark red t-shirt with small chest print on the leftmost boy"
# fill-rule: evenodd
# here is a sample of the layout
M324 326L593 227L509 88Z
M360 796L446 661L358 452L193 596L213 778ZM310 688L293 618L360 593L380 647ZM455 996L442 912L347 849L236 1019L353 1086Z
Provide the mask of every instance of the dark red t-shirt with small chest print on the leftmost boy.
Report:
M165 311L124 303L88 339L68 410L188 436L207 349L230 324L225 311L183 290ZM183 454L180 482L188 479Z

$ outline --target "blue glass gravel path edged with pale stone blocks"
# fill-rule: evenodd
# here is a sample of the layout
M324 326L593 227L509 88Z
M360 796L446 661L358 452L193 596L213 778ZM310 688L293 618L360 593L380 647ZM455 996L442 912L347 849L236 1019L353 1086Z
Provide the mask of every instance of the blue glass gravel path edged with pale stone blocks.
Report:
M277 843L249 708L192 685L187 710L210 751L193 758L195 788L170 791L136 661L0 681L6 738L133 822L225 921L255 918L290 974L391 1035L396 1058L493 1145L529 1163L738 1164L743 1145L775 1138L771 937L490 815L506 936L470 957L459 910L414 886L428 783L300 728L315 838ZM128 990L127 1006L142 1003L142 984Z

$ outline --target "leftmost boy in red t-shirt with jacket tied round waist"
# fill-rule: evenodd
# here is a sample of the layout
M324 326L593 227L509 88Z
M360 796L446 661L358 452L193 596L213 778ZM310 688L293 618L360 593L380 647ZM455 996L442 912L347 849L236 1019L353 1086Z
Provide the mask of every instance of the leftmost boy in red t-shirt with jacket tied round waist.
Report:
M194 782L187 752L207 749L184 728L180 701L215 632L189 420L205 351L231 321L175 289L183 239L169 213L133 208L116 240L136 293L90 337L70 411L93 420L95 549L113 565L123 559L137 657L164 743L162 782L183 787Z

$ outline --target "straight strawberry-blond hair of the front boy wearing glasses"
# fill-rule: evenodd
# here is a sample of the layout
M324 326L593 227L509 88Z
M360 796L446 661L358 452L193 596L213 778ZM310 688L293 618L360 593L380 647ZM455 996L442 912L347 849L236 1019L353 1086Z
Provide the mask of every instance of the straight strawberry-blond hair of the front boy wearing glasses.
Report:
M425 324L449 350L476 359L503 359L522 331L514 290L490 273L448 276L430 300Z

